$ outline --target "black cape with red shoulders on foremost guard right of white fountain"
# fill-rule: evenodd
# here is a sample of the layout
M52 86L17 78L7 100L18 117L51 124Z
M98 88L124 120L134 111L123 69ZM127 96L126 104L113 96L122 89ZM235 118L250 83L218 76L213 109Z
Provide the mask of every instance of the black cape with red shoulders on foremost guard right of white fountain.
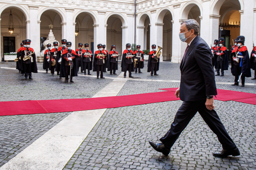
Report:
M77 76L77 62L78 62L78 59L77 59L77 55L76 55L76 52L74 50L70 50L70 51L67 51L67 49L65 49L62 53L62 59L61 59L61 74L60 74L60 77L66 77L66 71L65 71L65 59L64 59L64 54L67 54L67 53L71 53L73 54L73 56L75 56L75 58L73 59L73 77ZM56 69L55 69L56 70Z

